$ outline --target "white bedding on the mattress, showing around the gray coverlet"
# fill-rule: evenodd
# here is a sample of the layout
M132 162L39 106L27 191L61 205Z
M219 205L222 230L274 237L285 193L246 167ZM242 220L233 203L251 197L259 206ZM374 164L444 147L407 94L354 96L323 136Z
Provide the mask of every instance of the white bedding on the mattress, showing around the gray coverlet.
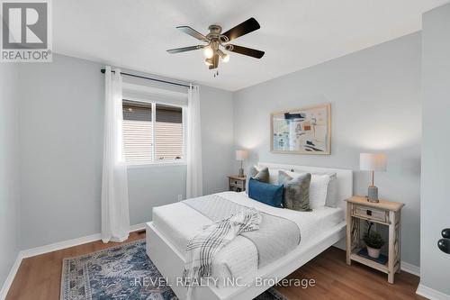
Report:
M248 198L245 192L224 192L218 194L239 205L255 207L261 212L284 217L297 223L301 231L299 246L307 243L320 232L323 232L344 220L344 210L341 208L320 207L313 212L296 212L288 209L264 205ZM178 202L153 208L153 224L164 234L176 250L185 253L187 241L193 238L202 227L211 220L188 205ZM257 248L252 241L238 236L216 255L213 261L213 277L217 277L218 286L223 279L234 277L244 281L255 276L257 272ZM181 274L182 270L180 270Z

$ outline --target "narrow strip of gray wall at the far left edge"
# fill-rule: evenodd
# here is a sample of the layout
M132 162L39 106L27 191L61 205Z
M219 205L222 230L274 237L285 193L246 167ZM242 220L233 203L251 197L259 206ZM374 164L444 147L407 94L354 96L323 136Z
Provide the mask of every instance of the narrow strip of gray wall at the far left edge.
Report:
M0 68L0 288L20 247L17 69L16 64Z

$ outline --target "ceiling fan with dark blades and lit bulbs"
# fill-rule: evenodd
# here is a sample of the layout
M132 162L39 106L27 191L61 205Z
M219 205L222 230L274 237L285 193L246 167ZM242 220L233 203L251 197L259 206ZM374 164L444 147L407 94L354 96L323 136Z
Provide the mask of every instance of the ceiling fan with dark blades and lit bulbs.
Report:
M200 32L192 29L189 26L177 26L176 29L189 34L199 41L203 41L206 44L196 45L184 48L176 48L167 50L171 54L191 51L191 50L203 50L203 55L205 56L204 63L208 68L214 69L219 67L219 57L223 62L229 61L229 54L225 53L223 50L228 50L231 52L236 52L239 54L251 56L256 59L261 59L264 56L264 51L255 50L247 47L242 47L238 45L229 44L229 41L233 41L238 37L245 35L250 32L254 32L260 28L259 23L255 18L249 18L247 21L238 24L231 28L228 32L222 33L222 28L219 25L212 24L209 29L209 33L203 35ZM221 50L223 49L223 50Z

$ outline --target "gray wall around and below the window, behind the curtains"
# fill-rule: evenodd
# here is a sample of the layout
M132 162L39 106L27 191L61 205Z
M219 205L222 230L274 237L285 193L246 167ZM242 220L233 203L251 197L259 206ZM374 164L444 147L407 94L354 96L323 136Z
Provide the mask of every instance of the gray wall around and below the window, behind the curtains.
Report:
M20 119L23 249L100 232L100 68L61 55L52 63L21 66L26 86ZM226 189L232 167L232 94L205 86L200 90L204 191L219 192ZM185 166L130 168L129 186L130 223L148 222L151 207L185 194Z

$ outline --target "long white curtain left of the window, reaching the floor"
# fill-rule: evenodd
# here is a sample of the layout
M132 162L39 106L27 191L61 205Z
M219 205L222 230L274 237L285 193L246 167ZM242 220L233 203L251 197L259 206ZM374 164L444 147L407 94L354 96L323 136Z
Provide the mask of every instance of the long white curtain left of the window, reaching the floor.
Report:
M102 178L102 241L124 241L130 232L127 166L123 156L121 70L106 67Z

